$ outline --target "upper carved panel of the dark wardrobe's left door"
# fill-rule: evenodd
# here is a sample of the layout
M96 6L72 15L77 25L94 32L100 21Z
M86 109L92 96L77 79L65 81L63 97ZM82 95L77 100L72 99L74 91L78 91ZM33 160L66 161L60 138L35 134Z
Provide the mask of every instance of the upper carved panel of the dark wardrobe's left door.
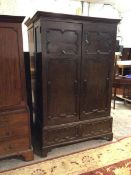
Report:
M80 55L81 24L45 21L44 28L46 54L65 57Z

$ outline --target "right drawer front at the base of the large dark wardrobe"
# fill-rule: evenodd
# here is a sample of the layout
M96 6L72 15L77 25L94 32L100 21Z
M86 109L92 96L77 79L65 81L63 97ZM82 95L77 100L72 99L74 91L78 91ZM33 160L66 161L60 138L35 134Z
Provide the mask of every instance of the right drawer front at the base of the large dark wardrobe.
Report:
M112 119L94 121L80 125L82 137L93 137L112 132Z

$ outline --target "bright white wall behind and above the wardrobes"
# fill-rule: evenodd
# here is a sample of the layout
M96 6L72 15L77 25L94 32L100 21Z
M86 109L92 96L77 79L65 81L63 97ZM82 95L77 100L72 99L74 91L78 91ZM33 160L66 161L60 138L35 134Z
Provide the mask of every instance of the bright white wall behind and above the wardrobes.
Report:
M50 11L67 14L81 14L82 6L79 1L71 0L0 0L0 14L22 15L32 17L36 11ZM118 27L118 36L124 47L131 47L130 22L131 11L120 14L111 5L94 4L83 2L84 16L121 18L121 24ZM27 28L22 24L24 51L28 51Z

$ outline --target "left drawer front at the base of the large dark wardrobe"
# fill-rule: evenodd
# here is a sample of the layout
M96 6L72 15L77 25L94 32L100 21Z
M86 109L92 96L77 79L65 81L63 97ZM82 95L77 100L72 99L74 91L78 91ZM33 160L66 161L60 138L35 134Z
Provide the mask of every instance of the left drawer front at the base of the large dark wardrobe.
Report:
M74 140L78 137L78 127L64 127L58 129L44 130L44 145L53 145Z

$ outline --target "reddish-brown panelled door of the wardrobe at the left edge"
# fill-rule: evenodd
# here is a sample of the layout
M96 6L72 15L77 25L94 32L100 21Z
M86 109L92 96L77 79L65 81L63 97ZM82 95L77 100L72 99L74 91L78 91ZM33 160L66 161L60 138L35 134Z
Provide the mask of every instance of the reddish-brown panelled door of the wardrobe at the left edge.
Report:
M0 110L25 106L20 41L21 29L17 24L0 23Z

